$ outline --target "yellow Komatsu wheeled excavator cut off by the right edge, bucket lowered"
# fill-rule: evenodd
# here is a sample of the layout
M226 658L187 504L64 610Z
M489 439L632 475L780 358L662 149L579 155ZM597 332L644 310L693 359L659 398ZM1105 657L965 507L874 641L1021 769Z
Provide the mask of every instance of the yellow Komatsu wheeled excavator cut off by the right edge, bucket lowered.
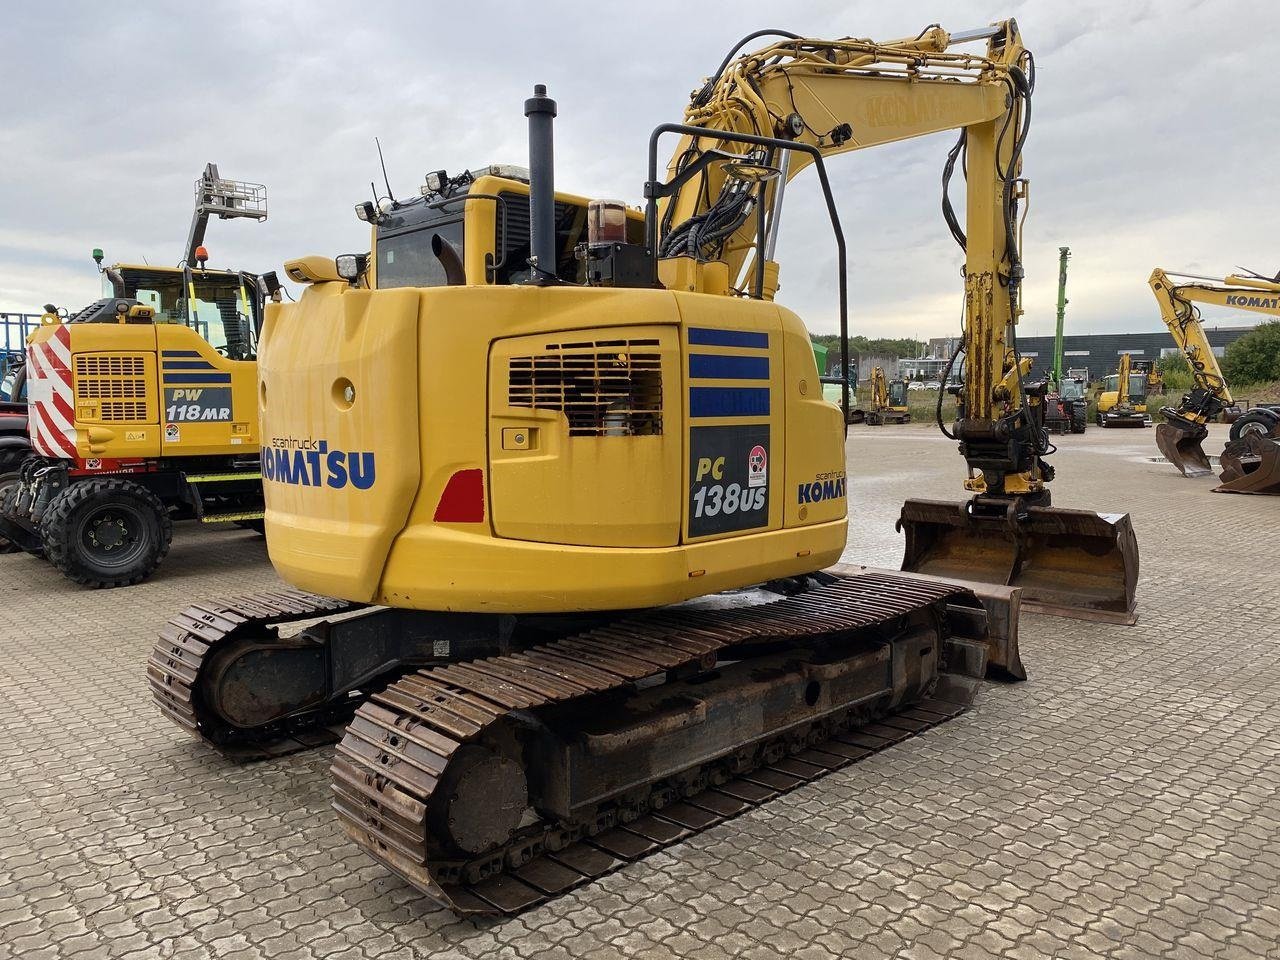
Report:
M1176 278L1176 280L1174 279ZM1204 448L1207 424L1234 403L1204 335L1197 303L1234 307L1263 316L1280 316L1280 282L1231 274L1224 279L1170 274L1158 266L1151 274L1151 292L1160 316L1187 358L1193 385L1176 407L1160 412L1156 445L1183 476L1213 472ZM1231 424L1231 439L1221 457L1221 493L1280 494L1280 412L1260 407Z

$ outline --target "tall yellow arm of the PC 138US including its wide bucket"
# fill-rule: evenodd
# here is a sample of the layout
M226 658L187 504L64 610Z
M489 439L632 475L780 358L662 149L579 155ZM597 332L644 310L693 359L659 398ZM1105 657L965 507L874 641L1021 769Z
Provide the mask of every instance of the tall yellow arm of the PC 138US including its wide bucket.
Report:
M783 38L735 59L769 35ZM980 40L982 52L964 47ZM888 42L751 35L692 93L685 124L655 132L652 143L664 129L681 141L667 180L650 175L646 234L663 285L768 300L778 289L774 250L790 180L818 166L842 251L823 161L957 131L942 209L965 256L964 384L954 429L941 404L938 425L959 442L973 497L904 504L904 568L1019 584L1046 612L1132 622L1137 543L1128 516L1050 506L1044 385L1019 375L1021 152L1033 90L1033 59L1011 19L965 33L934 26ZM956 175L966 184L963 223L950 200ZM841 323L847 344L844 303Z

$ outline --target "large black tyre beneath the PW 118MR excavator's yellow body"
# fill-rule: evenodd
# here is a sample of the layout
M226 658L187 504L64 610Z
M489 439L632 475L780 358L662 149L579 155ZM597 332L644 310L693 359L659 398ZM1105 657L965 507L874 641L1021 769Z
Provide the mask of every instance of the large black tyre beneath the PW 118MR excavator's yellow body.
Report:
M92 588L131 586L151 576L169 553L173 521L151 490L101 477L59 493L40 534L45 558L68 580Z

